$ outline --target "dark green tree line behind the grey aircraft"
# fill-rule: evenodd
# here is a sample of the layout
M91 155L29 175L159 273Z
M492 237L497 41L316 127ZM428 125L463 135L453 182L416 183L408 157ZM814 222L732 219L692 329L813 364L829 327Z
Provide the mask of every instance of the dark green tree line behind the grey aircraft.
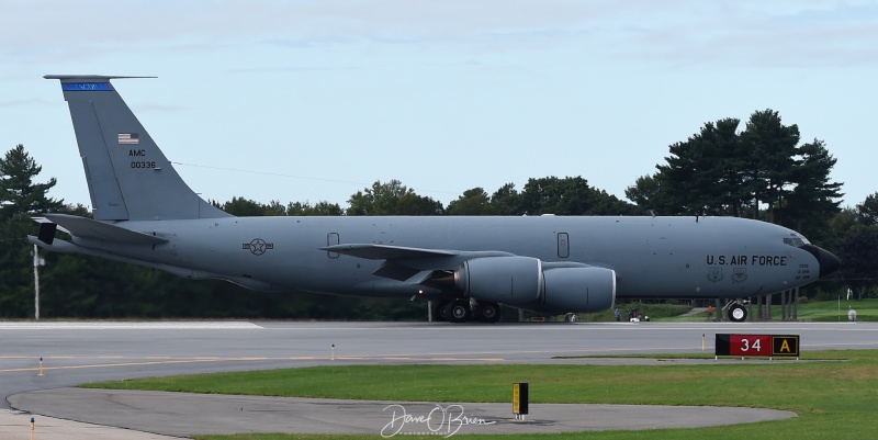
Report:
M840 207L842 183L832 182L835 158L824 142L801 143L798 126L772 110L754 112L743 129L736 119L708 122L668 146L656 172L638 178L628 201L583 177L531 178L519 190L466 190L443 206L398 180L376 181L342 207L335 203L233 198L215 206L250 215L732 215L785 225L835 252L842 279L818 283L809 295L835 295L853 285L873 294L878 272L878 192L855 207ZM31 216L59 212L89 216L36 182L42 168L22 145L0 159L0 317L34 314ZM191 281L165 272L80 255L41 253L41 316L76 318L235 317L299 319L425 319L424 304L296 292L248 291L222 281ZM834 296L832 296L834 297Z

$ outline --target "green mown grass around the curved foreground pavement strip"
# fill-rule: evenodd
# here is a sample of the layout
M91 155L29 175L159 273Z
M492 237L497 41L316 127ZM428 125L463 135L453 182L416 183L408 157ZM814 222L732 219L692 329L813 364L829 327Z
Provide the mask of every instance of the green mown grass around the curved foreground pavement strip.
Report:
M873 439L878 437L878 350L804 352L802 360L716 365L349 365L155 377L88 387L354 399L509 402L514 382L531 403L719 405L790 410L797 418L717 428L597 431L503 439ZM454 436L466 437L466 436ZM239 435L202 440L380 439L374 436ZM405 438L418 438L405 436ZM436 438L427 436L426 438Z

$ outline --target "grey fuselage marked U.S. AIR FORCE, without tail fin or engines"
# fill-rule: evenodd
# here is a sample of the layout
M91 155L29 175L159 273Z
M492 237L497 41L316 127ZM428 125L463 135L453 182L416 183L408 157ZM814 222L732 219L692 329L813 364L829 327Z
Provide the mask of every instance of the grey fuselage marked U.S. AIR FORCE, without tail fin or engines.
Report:
M154 247L78 240L132 259L267 290L374 296L447 295L373 275L381 261L320 250L375 244L495 250L608 268L619 297L747 297L803 285L820 266L780 226L730 217L227 217L124 222L169 239ZM124 250L124 251L123 251ZM449 270L453 268L447 268Z

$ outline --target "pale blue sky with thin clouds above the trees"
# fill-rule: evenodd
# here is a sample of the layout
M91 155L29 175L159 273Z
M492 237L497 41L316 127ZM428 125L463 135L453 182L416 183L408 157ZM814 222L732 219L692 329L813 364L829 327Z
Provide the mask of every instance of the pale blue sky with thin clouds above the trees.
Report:
M624 199L706 122L772 109L878 192L878 1L0 0L0 151L89 205L44 75L114 80L204 199L347 207L399 180L448 205L529 178Z

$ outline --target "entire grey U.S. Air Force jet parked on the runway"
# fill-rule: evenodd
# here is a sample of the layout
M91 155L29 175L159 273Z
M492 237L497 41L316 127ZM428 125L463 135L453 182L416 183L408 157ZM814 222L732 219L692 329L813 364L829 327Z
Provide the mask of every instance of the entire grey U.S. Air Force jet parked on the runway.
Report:
M609 309L617 298L742 298L798 287L838 259L781 226L731 217L236 217L202 200L111 80L60 80L92 217L44 214L31 242L252 290L430 300L451 321L500 305ZM55 238L59 229L70 240Z

